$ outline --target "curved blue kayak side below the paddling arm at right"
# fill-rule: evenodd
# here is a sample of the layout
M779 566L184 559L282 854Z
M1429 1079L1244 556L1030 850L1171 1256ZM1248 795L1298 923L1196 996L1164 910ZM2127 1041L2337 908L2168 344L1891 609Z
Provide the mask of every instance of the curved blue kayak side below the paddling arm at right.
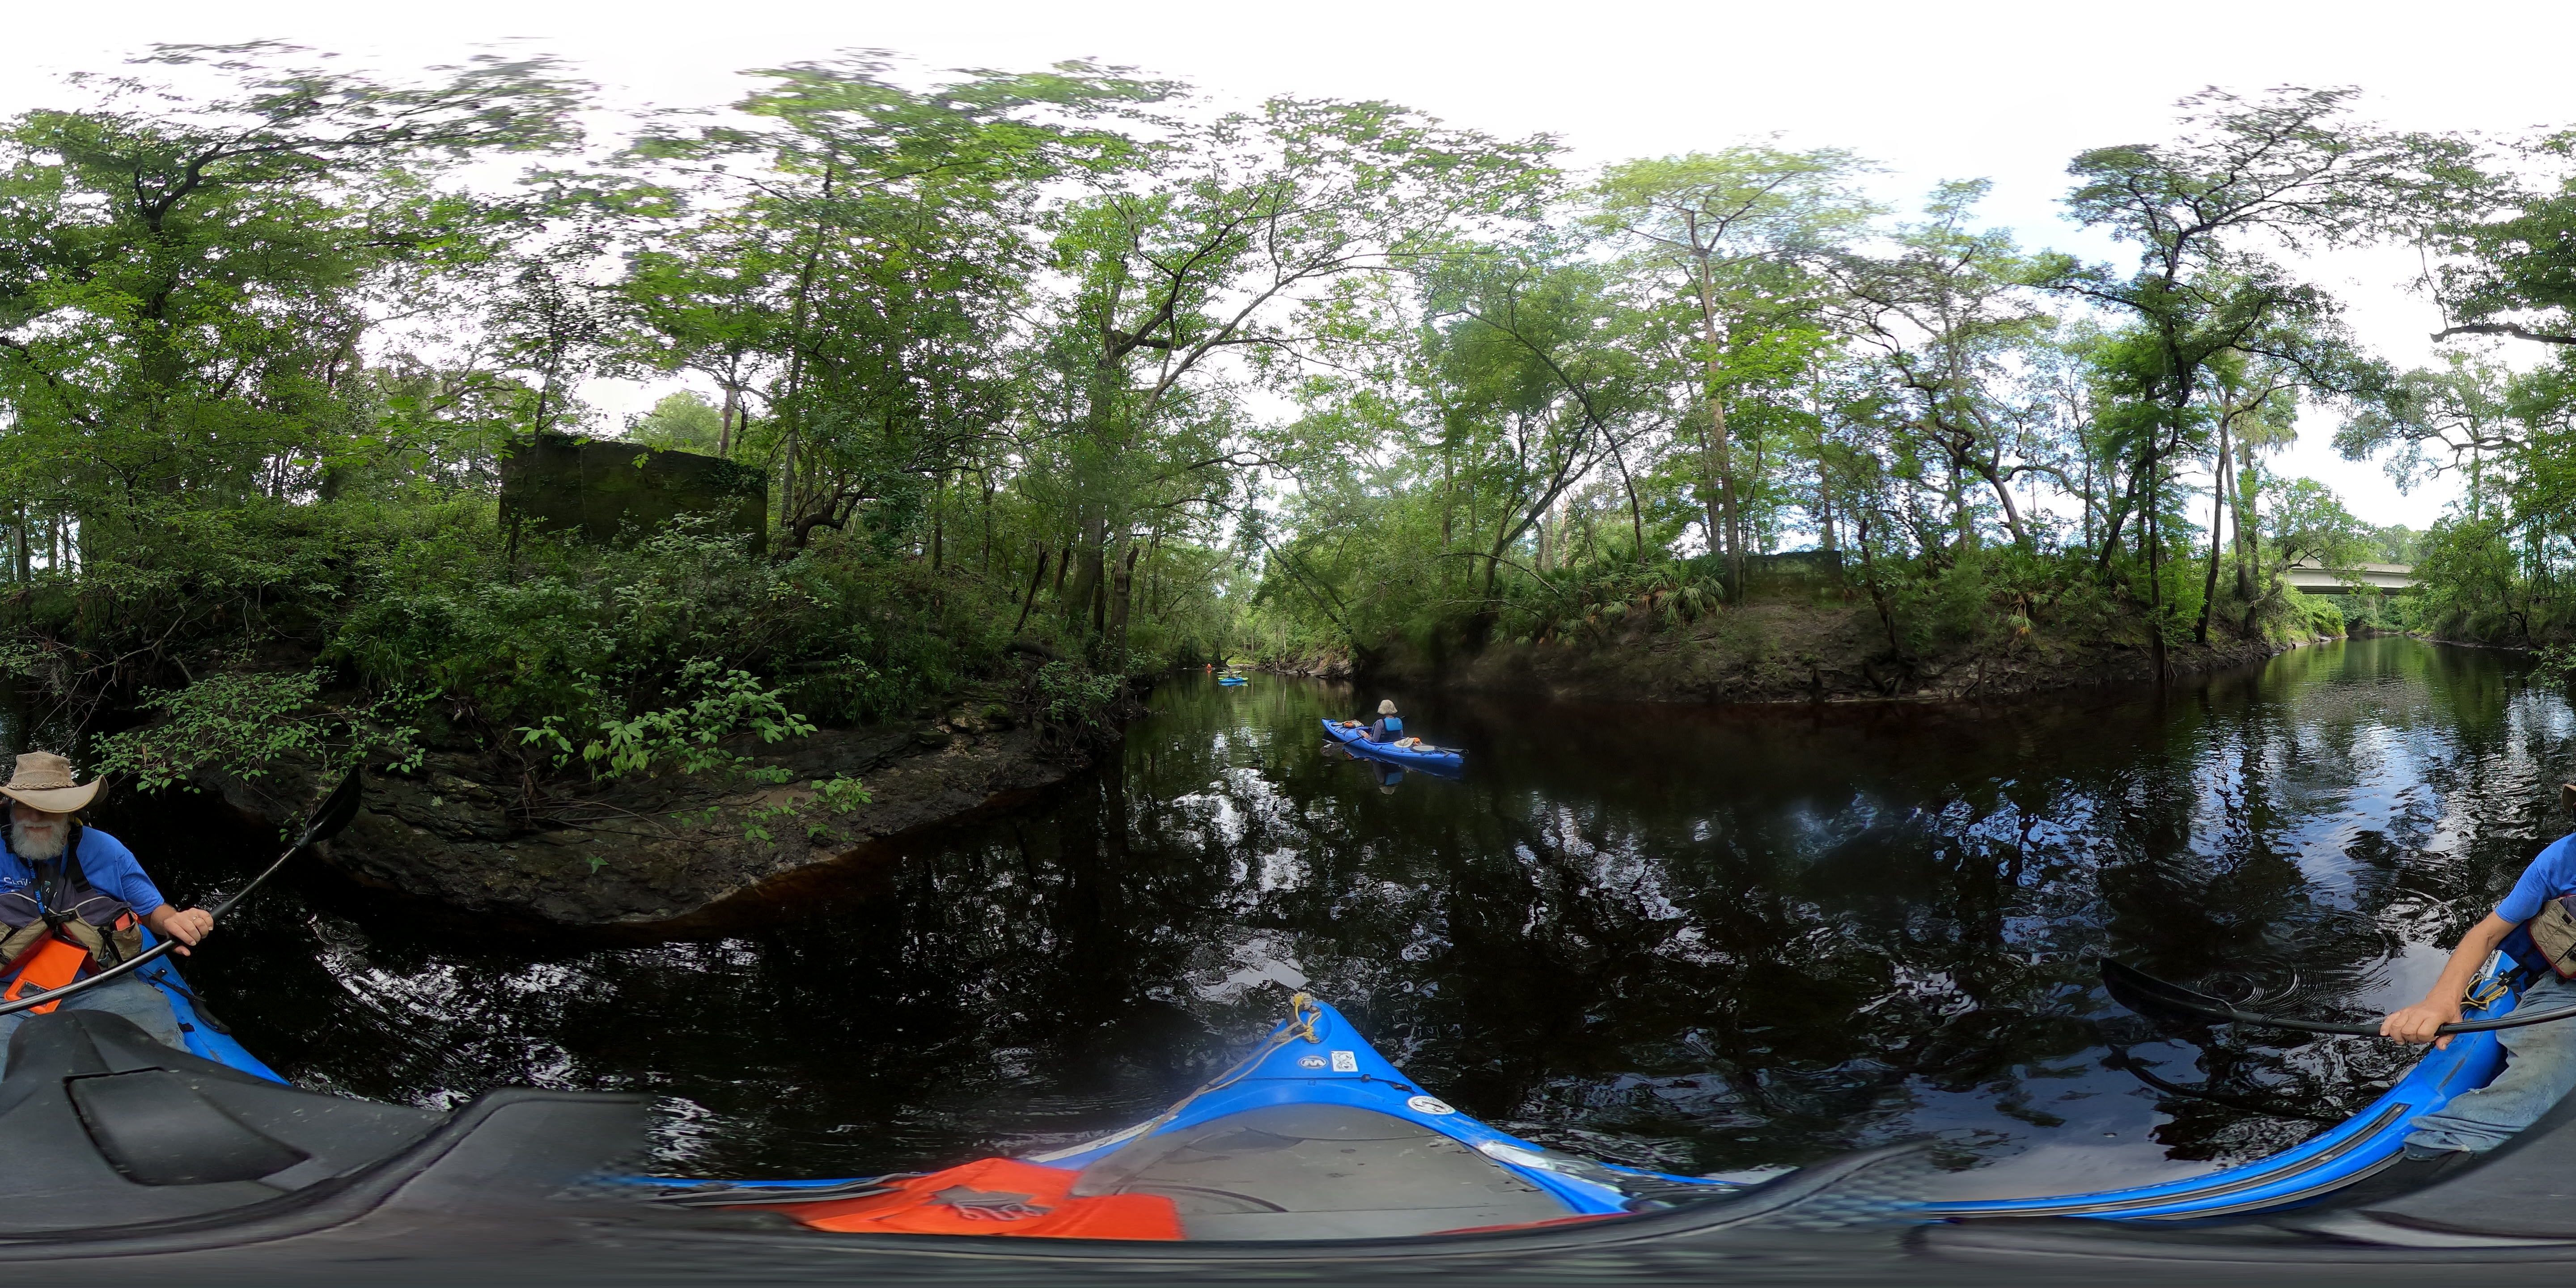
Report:
M2488 1020L2514 1010L2514 987L2504 979L2509 961L2494 958L2470 987L2476 1005L2468 1020ZM2099 1221L2200 1221L2267 1208L2295 1208L2326 1198L2391 1162L2403 1151L2409 1121L2434 1113L2450 1097L2486 1087L2504 1069L2496 1033L2460 1033L2447 1051L2427 1051L2385 1095L2349 1121L2308 1141L2241 1167L2200 1177L2128 1190L2094 1190L2040 1198L1976 1198L1924 1203L1922 1216L1958 1221L1971 1216L2087 1216Z

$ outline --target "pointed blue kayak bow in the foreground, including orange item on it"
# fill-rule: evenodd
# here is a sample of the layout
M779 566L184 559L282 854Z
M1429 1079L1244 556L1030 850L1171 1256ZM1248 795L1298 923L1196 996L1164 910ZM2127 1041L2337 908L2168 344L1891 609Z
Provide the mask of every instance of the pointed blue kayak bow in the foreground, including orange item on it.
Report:
M1747 1185L1615 1167L1479 1123L1306 994L1231 1069L1095 1141L930 1175L636 1182L832 1231L1226 1242L1520 1229Z

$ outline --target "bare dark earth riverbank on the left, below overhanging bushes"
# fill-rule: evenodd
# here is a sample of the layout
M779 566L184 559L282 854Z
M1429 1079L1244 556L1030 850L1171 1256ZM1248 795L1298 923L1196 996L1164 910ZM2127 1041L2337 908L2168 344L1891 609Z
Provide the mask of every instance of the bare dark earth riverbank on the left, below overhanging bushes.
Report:
M999 703L940 719L824 729L744 747L783 786L662 775L559 788L531 801L489 752L430 752L417 773L368 775L366 806L322 858L363 886L502 925L685 933L762 886L848 863L899 837L1002 809L1090 768L1105 737L1069 739ZM860 778L868 801L832 809L811 783ZM301 819L312 773L198 786L270 827Z

